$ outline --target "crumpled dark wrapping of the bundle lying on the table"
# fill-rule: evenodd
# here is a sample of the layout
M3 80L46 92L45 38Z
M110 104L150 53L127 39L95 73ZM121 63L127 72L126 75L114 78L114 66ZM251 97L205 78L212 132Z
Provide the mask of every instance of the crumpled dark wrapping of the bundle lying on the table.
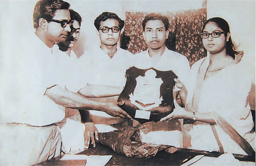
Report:
M163 122L148 122L140 127L124 127L108 133L99 133L99 141L112 148L116 153L128 157L153 157L157 152L172 146L156 145L141 141L140 133L148 134L152 131L180 131L181 124L177 119Z

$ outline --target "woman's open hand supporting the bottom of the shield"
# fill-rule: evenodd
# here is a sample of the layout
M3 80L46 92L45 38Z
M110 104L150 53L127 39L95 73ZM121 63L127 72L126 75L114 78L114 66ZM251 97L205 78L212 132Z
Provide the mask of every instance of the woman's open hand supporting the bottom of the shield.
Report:
M193 116L193 112L188 112L184 108L177 108L172 113L162 118L160 121L170 119L193 119Z

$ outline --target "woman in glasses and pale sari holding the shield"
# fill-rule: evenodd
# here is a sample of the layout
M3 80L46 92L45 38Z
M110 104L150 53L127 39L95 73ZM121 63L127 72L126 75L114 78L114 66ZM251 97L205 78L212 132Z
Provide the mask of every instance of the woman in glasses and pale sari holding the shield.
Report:
M177 109L161 120L194 122L184 125L185 148L253 155L255 133L247 101L251 81L240 67L243 53L234 50L229 25L223 18L208 19L200 36L210 56L192 66L187 96L182 95L186 94L182 83L176 82L180 97L185 98L185 109Z

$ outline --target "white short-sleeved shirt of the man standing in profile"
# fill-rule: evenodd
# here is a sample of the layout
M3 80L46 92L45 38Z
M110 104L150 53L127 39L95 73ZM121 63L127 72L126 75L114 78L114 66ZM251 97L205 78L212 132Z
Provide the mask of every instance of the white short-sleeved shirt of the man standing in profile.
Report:
M44 126L59 122L65 116L64 107L44 92L60 83L64 88L68 75L65 61L54 56L35 34L28 39L9 50L3 61L6 70L1 73L0 123Z

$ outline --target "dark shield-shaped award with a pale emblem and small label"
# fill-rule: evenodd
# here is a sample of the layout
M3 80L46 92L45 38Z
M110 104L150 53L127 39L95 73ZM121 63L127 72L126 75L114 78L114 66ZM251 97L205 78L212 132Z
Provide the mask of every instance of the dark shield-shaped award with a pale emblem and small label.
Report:
M174 109L174 78L178 77L171 70L136 67L126 70L126 84L118 98L118 102L124 102L120 108L141 124L159 121Z

